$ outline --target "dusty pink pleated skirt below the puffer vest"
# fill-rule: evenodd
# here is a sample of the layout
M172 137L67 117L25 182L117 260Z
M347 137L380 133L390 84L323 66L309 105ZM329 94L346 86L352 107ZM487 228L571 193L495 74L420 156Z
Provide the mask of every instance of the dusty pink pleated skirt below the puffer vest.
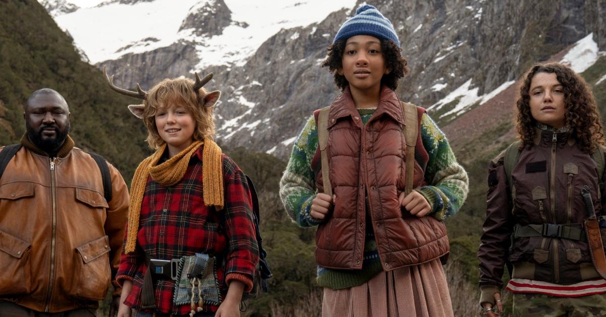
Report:
M324 289L322 317L453 316L439 259L381 272L350 289Z

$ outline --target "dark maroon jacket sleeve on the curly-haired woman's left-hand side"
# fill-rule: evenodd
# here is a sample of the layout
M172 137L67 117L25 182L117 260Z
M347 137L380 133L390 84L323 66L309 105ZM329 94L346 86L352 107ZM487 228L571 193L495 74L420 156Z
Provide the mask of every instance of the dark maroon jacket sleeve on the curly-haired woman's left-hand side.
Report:
M491 161L488 167L486 219L478 250L481 289L482 287L486 289L485 285L493 285L498 289L503 287L501 278L514 225L511 213L511 191L507 185L504 158L501 156L495 160L496 162Z

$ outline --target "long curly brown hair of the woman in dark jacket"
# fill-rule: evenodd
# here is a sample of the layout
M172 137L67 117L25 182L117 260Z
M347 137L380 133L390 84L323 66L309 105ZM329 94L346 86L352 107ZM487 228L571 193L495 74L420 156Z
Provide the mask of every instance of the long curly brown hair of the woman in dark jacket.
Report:
M564 90L564 119L565 125L571 128L571 133L579 142L579 148L585 153L596 149L596 143L604 145L602 120L598 113L596 99L591 88L581 76L574 73L570 67L559 63L534 64L524 74L524 80L519 87L518 117L516 125L521 139L520 148L530 148L534 145L536 120L530 113L530 82L536 73L555 73L558 82Z

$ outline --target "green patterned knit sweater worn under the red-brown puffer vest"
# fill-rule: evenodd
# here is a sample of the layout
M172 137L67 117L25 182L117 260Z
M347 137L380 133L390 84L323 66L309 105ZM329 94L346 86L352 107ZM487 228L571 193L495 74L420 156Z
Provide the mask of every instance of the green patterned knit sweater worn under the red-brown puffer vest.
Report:
M370 120L375 109L358 109L362 122ZM467 173L456 162L444 133L425 113L421 118L421 139L429 155L425 180L427 186L419 193L431 205L430 214L443 220L456 213L467 196ZM301 227L311 227L322 221L310 216L311 201L316 196L315 175L311 160L318 149L318 131L312 115L299 134L290 161L280 181L280 197L288 215ZM368 215L367 215L368 218ZM321 287L347 289L369 281L382 271L373 229L367 226L364 260L361 270L333 270L318 267L317 282Z

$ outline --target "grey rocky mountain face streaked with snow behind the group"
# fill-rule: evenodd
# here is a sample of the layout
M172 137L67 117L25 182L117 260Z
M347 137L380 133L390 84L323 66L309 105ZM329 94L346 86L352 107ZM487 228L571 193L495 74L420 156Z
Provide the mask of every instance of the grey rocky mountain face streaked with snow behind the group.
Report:
M606 50L605 1L382 0L375 5L393 22L411 67L399 96L430 107L441 125L477 107L482 96L509 87L502 85L533 62L591 32ZM242 66L198 70L215 72L208 85L223 92L216 107L218 139L286 158L305 119L338 93L320 64L339 26L354 13L355 8L341 10L307 27L283 29ZM231 23L229 8L217 0L191 10L182 28L208 36ZM163 78L190 73L201 59L198 44L180 41L99 66L107 64L118 84L141 82L150 88ZM458 110L465 101L467 107Z

